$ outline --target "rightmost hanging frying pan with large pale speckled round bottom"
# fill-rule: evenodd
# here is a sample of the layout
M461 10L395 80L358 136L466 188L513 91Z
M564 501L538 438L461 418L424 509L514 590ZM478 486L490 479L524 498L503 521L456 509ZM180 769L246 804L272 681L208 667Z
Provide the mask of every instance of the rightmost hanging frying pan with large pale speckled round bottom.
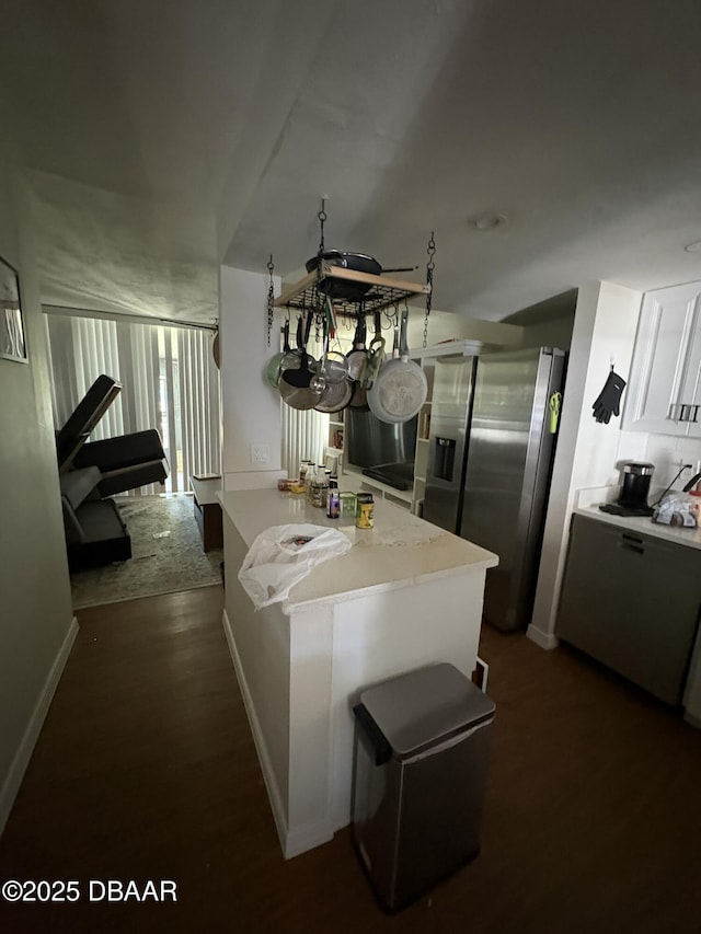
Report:
M409 310L404 309L401 315L399 359L388 360L368 390L370 411L380 422L390 424L409 422L418 413L428 395L426 373L418 364L409 359L407 321Z

